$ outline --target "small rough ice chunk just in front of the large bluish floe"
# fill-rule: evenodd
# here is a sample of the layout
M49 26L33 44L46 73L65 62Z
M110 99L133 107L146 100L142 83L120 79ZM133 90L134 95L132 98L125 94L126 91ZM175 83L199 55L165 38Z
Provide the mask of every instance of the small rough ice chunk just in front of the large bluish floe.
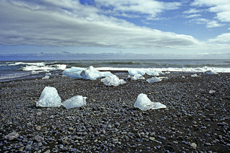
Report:
M101 79L101 82L103 82L107 86L118 86L120 84L126 83L123 79L119 79L116 75L111 75L104 79Z

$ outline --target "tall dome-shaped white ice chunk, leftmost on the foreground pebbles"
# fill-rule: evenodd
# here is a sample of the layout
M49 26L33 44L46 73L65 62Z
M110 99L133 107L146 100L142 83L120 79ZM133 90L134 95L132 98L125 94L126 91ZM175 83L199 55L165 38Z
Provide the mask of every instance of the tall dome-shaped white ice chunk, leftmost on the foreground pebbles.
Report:
M45 87L36 103L36 107L60 107L61 105L61 97L54 87Z

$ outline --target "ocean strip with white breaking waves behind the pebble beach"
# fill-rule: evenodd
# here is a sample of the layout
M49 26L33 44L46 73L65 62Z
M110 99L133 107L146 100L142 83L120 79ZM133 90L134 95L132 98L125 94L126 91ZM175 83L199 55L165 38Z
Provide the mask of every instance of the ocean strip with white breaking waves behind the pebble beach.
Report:
M98 70L117 71L156 69L158 71L230 73L229 59L0 61L0 82L42 77L46 72L56 73L73 66L81 68L93 66Z

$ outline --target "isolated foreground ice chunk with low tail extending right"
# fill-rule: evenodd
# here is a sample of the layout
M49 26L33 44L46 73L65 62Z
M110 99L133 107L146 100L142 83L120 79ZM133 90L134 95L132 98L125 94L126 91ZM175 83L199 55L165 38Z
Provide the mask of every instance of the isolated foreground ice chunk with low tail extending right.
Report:
M139 108L143 111L149 110L149 109L161 109L166 108L164 104L161 104L160 102L152 102L146 94L139 94L137 97L136 102L134 103L134 107Z

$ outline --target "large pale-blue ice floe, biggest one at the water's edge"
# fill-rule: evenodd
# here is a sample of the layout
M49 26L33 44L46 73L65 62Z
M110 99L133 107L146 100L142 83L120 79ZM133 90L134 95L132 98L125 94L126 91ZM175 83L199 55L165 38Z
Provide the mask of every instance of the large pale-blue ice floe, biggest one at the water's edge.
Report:
M63 75L76 78L76 79L87 79L87 80L96 80L97 78L107 77L113 75L111 72L99 72L93 66L88 68L78 68L72 67L70 69L65 69L62 72Z

